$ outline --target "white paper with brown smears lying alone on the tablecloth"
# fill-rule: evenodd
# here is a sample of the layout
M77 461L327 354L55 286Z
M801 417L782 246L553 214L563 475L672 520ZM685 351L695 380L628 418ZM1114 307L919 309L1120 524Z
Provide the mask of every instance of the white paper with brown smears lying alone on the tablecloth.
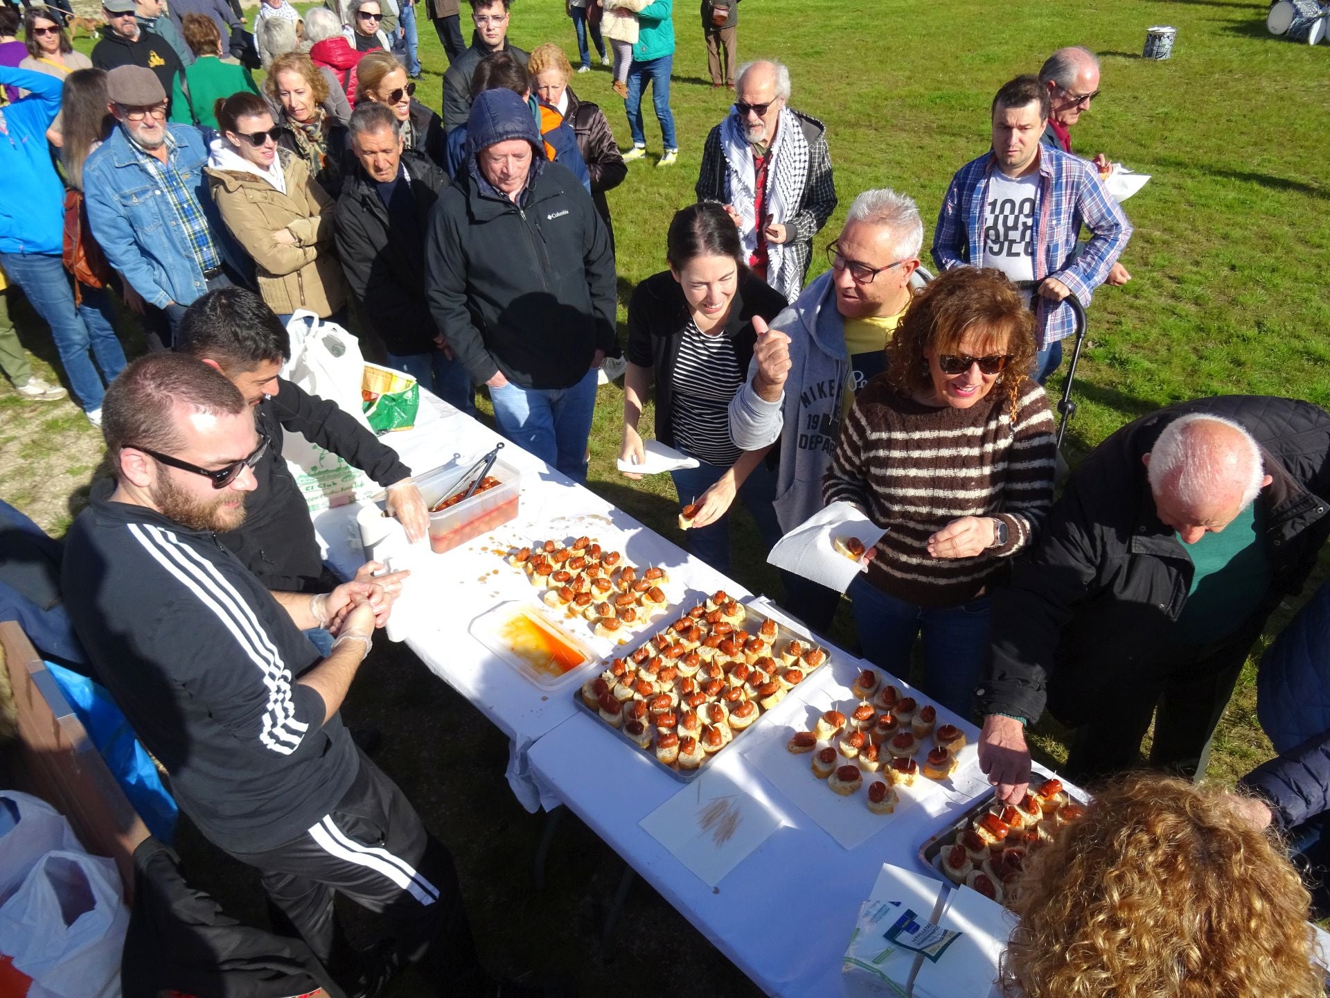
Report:
M713 801L726 798L737 824L728 838L717 841L722 837L716 826L702 828L701 813ZM706 886L714 888L781 826L781 816L759 788L745 790L724 769L709 768L638 824Z

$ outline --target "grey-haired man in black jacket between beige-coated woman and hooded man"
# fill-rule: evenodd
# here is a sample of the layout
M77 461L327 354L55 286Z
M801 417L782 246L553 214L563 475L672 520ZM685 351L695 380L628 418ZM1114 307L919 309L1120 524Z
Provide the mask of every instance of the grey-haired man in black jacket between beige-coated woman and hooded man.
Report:
M336 205L336 249L351 293L407 371L444 402L475 413L467 370L435 342L424 301L424 233L448 178L424 157L403 157L392 112L362 101L347 125L356 168Z

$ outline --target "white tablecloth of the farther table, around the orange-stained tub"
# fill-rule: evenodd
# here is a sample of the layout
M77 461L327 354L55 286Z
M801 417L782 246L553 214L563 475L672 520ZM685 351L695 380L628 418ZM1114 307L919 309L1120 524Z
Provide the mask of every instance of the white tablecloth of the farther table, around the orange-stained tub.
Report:
M468 466L500 439L424 390L416 426L383 438L414 472L452 460ZM686 580L698 591L726 588L737 597L746 596L747 591L520 447L507 443L500 458L521 471L517 519L463 547L430 556L428 570L416 571L407 580L411 587L428 587L431 596L438 596L439 612L427 623L410 627L406 643L431 672L508 736L508 784L523 805L535 812L541 801L527 773L527 750L536 739L573 715L576 687L549 695L496 660L468 633L471 621L499 603L536 601L539 597L525 576L509 568L495 551L517 542L529 544L551 536L572 539L585 534L598 538L606 550L622 551L634 564L666 568L672 578ZM364 563L355 524L359 510L359 504L342 506L314 518L325 560L343 578ZM601 651L609 649L604 643ZM557 802L547 801L547 806Z

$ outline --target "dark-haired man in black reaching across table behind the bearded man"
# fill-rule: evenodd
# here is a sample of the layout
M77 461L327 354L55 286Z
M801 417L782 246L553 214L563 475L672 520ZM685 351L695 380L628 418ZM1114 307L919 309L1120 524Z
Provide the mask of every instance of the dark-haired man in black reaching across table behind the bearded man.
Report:
M285 430L303 435L387 487L388 512L402 522L407 536L419 540L426 535L430 515L424 499L411 482L411 468L396 452L335 402L278 377L291 357L290 339L257 294L243 287L205 294L185 313L176 349L225 374L254 407L259 432L270 440L254 466L259 488L246 502L245 523L219 535L219 542L270 589L327 588L309 506L282 458ZM363 568L358 578L367 572Z

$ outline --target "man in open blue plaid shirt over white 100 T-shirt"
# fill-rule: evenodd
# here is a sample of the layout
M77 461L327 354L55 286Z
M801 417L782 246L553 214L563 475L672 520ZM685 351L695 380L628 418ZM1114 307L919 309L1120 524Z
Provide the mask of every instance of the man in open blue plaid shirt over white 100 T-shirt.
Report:
M1093 165L1043 144L1048 113L1048 88L1035 76L1017 76L998 90L991 148L951 178L932 236L940 269L998 267L1017 286L1035 289L1040 385L1057 370L1061 341L1076 327L1064 299L1075 294L1089 306L1132 237ZM1077 248L1083 225L1091 238Z

